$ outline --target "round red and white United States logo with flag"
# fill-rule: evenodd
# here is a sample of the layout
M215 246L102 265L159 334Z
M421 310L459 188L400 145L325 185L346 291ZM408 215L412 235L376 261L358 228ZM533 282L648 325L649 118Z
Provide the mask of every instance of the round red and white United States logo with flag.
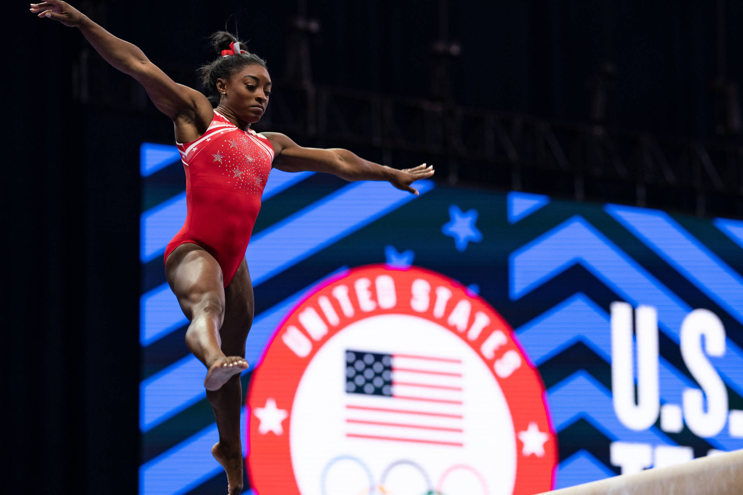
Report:
M291 312L253 373L259 495L531 495L557 439L539 373L460 283L363 266Z

